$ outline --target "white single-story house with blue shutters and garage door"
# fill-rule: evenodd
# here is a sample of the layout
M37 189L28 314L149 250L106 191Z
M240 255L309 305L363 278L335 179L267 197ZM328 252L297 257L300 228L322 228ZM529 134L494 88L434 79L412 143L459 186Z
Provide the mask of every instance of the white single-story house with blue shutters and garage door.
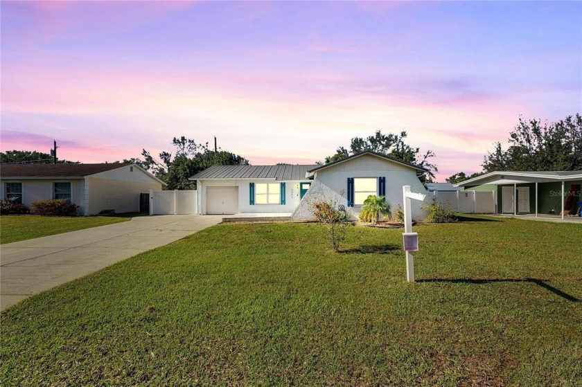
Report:
M369 195L384 195L396 209L403 205L403 186L425 194L418 179L425 172L418 165L364 151L325 165L216 165L190 179L197 183L201 215L292 214L304 199L337 199L338 205L357 216ZM313 185L317 194L309 193ZM421 204L414 204L413 217L424 216Z

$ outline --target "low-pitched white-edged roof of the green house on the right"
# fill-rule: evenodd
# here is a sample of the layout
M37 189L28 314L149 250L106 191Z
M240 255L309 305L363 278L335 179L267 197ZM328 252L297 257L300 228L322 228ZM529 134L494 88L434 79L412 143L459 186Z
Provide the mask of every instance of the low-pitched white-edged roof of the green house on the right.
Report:
M582 170L579 171L497 171L483 174L473 179L461 181L456 187L480 186L482 184L513 184L521 182L540 183L548 181L582 180Z

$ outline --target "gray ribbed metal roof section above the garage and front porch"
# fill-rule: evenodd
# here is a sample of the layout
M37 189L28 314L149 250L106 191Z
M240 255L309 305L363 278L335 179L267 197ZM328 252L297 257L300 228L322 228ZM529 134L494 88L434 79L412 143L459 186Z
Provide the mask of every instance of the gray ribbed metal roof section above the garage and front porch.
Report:
M190 180L202 179L274 179L277 181L305 180L308 170L317 165L213 165L198 172Z

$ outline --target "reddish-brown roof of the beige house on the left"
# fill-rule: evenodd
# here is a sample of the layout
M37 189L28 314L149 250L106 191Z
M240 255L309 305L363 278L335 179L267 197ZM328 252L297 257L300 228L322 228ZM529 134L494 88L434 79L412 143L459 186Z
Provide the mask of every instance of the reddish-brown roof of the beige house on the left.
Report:
M1 164L0 177L84 177L126 165L130 164Z

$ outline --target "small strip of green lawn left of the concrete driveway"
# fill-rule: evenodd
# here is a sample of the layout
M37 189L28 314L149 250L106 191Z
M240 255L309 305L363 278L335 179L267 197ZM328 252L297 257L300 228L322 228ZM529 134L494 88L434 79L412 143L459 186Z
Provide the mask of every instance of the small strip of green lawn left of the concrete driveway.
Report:
M139 215L139 214L133 214ZM82 230L105 224L127 222L131 216L95 217L41 217L36 215L2 215L0 217L0 244L18 242L19 240L46 237Z

